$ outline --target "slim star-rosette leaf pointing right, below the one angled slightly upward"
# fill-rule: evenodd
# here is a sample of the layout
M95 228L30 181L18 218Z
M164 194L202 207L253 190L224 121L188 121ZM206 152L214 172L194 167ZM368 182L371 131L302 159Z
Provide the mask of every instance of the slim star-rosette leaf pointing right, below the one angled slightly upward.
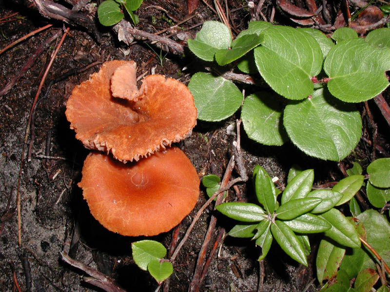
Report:
M298 233L319 233L331 228L328 221L311 213L303 214L295 219L284 221L292 231Z

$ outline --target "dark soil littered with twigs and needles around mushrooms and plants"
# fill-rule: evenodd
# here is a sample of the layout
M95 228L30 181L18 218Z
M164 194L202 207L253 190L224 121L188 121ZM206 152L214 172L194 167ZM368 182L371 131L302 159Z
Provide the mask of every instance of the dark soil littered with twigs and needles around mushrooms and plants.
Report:
M0 48L23 37L29 32L52 23L53 27L29 37L17 46L0 55L0 87L19 73L29 56L38 46L62 29L60 21L43 18L33 8L25 4L6 4L0 1L0 18L13 13L11 21L0 23ZM171 25L172 19L184 19L187 14L187 1L145 0L138 11L138 28L156 32ZM229 1L230 9L240 8L240 1ZM66 4L66 3L65 3ZM155 5L155 6L151 6ZM157 6L169 12L169 17ZM202 11L181 27L190 28L195 24L212 19L214 14L200 1L197 11ZM247 26L250 17L245 9L232 13L237 32ZM68 27L67 24L65 24ZM190 54L186 57L168 54L161 61L150 47L139 41L130 47L117 41L117 36L109 29L97 24L101 42L94 34L82 27L70 27L59 54L48 73L35 110L32 128L27 144L24 143L25 130L41 76L50 60L57 43L53 42L34 62L16 85L0 97L0 290L1 291L100 291L85 284L80 277L82 272L73 269L61 260L65 252L79 262L106 274L127 291L155 291L156 281L141 271L132 260L131 243L143 237L122 237L104 229L89 213L77 183L81 168L88 154L75 133L69 128L65 117L66 101L73 88L97 72L100 64L75 72L54 83L45 95L49 82L68 70L83 69L96 61L113 59L133 59L138 65L138 75L152 72L164 74L187 84L197 66ZM195 37L200 26L186 31L187 37ZM185 44L184 41L174 38ZM159 53L160 49L153 46ZM163 54L165 54L163 52ZM162 65L160 63L162 62ZM186 70L184 70L186 68ZM371 106L371 105L370 105ZM372 106L374 108L374 106ZM373 114L382 123L379 113ZM234 135L227 133L227 127L235 123L236 116L220 123L198 122L191 137L179 143L198 171L199 177L205 174L223 176L226 165L232 156ZM366 135L372 129L365 124ZM388 128L379 132L388 133ZM277 176L283 185L288 169L292 164L303 168L315 168L316 183L339 179L342 174L336 163L323 162L304 156L291 144L282 147L259 145L241 131L241 144L246 170L252 175L253 168L260 164L271 177ZM33 136L31 157L27 148ZM388 138L388 137L387 137ZM208 141L211 141L208 144ZM386 141L385 141L386 142ZM387 141L388 142L388 141ZM363 164L371 159L372 149L367 144L359 144L354 157L344 164L359 159ZM22 153L24 160L21 164ZM43 158L46 155L52 158ZM236 172L233 173L237 177ZM20 179L21 242L18 240L17 189ZM229 192L229 200L236 194L252 201L252 182L238 184ZM187 230L195 212L206 201L201 188L195 210L183 219L179 239ZM172 292L187 291L193 277L196 259L206 233L212 208L208 208L195 225L189 240L176 258L175 273L170 278ZM217 214L216 214L217 215ZM233 222L218 217L217 227L229 230ZM215 232L215 235L217 231ZM158 240L169 247L172 233L164 233L150 239ZM261 291L316 291L314 281L315 237L313 252L309 256L310 265L304 267L290 259L276 244L263 261L259 270L259 249L246 239L226 237L214 256L200 291L257 291L259 278L263 277ZM161 290L162 291L162 288Z

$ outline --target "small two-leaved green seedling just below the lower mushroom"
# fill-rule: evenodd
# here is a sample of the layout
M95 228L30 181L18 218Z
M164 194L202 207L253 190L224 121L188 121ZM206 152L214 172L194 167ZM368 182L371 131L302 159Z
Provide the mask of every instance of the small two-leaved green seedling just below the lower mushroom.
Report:
M149 273L161 284L174 271L169 260L165 260L167 249L158 241L141 240L132 244L133 258L137 266Z

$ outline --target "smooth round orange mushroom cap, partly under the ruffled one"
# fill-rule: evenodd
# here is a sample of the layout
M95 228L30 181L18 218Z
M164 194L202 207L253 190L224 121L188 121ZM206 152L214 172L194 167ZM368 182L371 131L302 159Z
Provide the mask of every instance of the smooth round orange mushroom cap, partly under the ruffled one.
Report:
M199 196L196 170L177 147L128 164L91 153L78 186L95 219L125 236L171 230L191 212Z

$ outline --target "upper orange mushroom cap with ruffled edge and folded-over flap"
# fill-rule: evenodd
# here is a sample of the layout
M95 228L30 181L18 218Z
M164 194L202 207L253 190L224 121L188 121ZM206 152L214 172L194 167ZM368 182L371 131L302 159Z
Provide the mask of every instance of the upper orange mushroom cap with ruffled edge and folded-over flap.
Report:
M121 98L113 97L110 81L117 84L117 80L125 80L126 67L133 70L131 62L105 62L98 73L75 87L65 112L84 146L112 152L123 162L138 161L184 139L191 134L197 117L189 89L163 75L149 75L138 92L128 86L130 94L124 90L117 95ZM111 80L116 71L118 77ZM135 84L134 76L129 73L128 82Z

